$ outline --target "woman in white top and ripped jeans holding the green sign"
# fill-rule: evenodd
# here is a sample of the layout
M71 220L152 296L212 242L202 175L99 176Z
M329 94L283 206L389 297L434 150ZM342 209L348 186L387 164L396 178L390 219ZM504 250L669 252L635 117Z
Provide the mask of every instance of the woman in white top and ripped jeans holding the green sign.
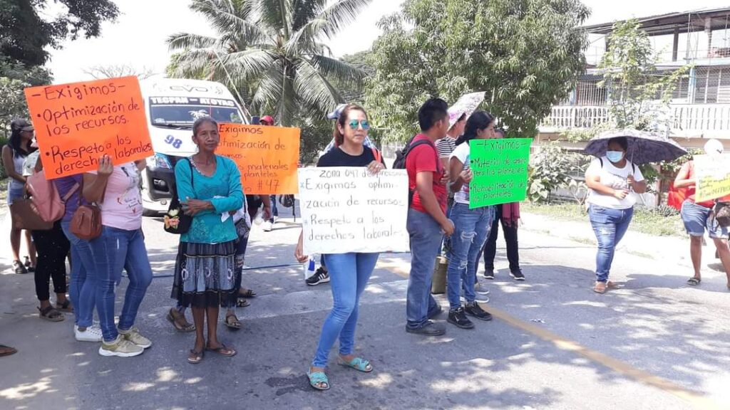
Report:
M449 266L446 271L450 306L447 320L462 329L474 328L474 323L466 317L467 314L478 320L492 319L492 315L484 312L476 302L475 282L479 255L489 236L494 207L469 209L469 182L474 177L469 167L469 141L490 139L495 136L494 117L487 112L477 111L466 121L464 135L456 140L456 149L449 159L450 190L455 195L450 213L454 223L454 233L451 236ZM461 306L459 297L462 285L466 300L464 306Z

